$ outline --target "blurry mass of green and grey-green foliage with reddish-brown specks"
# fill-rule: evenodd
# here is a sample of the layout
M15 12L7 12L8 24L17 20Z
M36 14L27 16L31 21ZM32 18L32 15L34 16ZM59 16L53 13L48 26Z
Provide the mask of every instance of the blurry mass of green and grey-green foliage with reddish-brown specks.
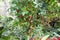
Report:
M2 40L29 40L29 38L60 35L60 7L55 0L11 0L10 15L3 17ZM53 24L53 25L52 25ZM13 38L12 38L13 37Z

